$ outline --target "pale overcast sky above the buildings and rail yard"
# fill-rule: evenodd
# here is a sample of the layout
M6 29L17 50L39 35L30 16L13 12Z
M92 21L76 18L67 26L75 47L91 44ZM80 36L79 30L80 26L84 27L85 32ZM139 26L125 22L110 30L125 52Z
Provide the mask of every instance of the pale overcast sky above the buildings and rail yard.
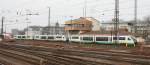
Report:
M87 16L106 22L114 17L115 0L87 0ZM23 29L29 25L46 26L48 7L51 7L51 24L83 16L85 0L0 0L0 16L5 16L5 27ZM138 0L138 18L150 15L150 0ZM18 12L18 15L17 15ZM39 15L26 16L27 13ZM27 20L27 18L29 20ZM134 0L120 0L120 19L134 19Z

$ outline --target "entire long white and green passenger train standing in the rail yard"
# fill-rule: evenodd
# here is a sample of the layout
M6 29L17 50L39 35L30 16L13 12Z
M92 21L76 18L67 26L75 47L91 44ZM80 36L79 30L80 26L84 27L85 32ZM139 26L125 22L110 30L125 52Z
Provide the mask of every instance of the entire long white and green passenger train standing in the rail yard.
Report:
M137 40L134 36L119 35L15 35L16 40L50 40L50 41L70 41L80 43L96 43L96 44L136 44Z

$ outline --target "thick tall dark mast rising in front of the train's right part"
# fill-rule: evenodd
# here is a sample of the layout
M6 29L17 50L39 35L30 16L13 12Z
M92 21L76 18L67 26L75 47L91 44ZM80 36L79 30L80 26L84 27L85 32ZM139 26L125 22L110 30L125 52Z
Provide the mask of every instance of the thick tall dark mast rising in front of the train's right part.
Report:
M118 33L119 33L119 0L115 0L115 12L114 12L114 33L115 33L115 37L116 37L116 41L115 43L118 43Z

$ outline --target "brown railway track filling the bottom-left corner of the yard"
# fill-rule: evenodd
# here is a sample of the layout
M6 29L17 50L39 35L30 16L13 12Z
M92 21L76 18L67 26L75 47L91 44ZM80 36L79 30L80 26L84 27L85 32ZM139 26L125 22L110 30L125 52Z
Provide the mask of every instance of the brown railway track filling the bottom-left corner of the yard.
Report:
M40 59L12 53L10 51L0 49L0 61L4 65L40 65Z

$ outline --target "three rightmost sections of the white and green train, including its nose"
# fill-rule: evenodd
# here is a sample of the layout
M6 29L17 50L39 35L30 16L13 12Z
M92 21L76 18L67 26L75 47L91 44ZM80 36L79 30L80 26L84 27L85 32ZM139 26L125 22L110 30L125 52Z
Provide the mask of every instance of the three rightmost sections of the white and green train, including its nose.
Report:
M80 41L84 43L96 43L96 44L136 44L136 38L133 36L111 36L111 35L83 35L80 37Z

